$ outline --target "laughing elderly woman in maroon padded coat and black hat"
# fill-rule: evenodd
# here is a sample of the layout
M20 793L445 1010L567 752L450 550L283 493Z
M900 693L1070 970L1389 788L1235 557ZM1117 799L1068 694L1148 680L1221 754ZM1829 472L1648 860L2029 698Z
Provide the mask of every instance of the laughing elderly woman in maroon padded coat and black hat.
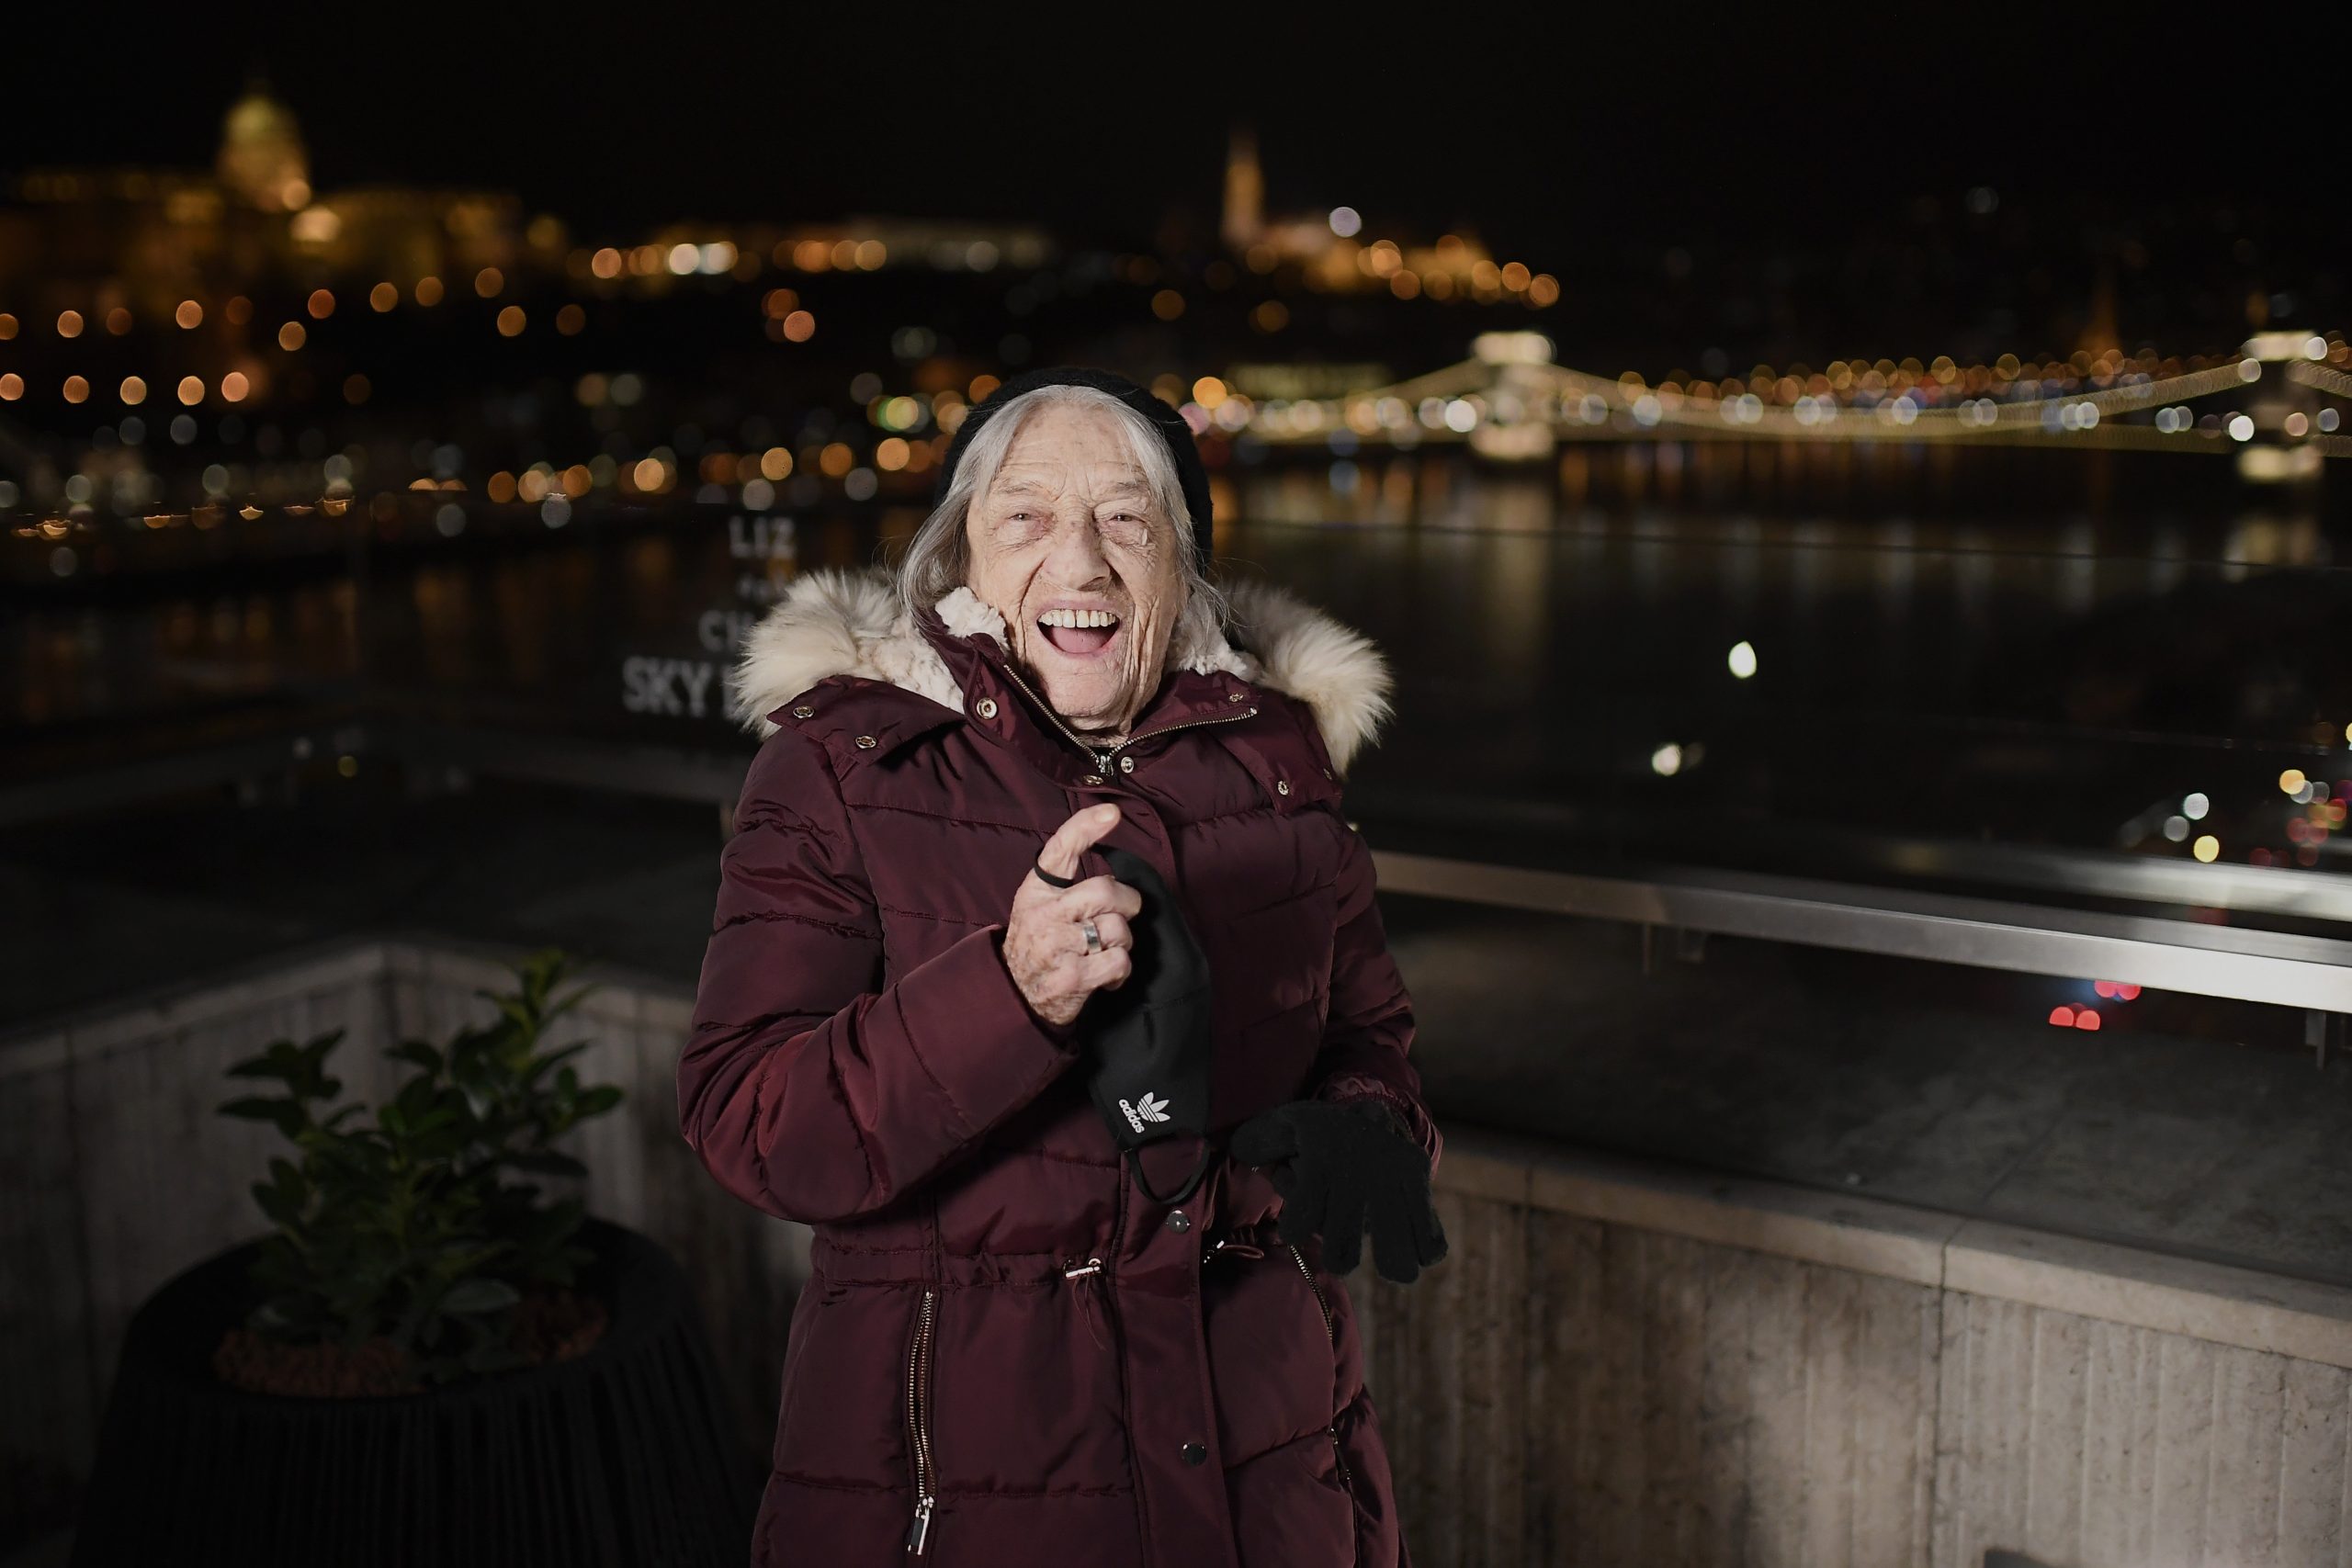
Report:
M1221 595L1209 538L1174 409L1040 371L971 411L894 581L809 574L746 642L767 738L677 1091L710 1173L814 1227L757 1563L1404 1561L1336 1279L1367 1225L1388 1276L1444 1255L1338 790L1388 670ZM1204 1126L1122 1161L1089 1020L1171 919L1214 976Z

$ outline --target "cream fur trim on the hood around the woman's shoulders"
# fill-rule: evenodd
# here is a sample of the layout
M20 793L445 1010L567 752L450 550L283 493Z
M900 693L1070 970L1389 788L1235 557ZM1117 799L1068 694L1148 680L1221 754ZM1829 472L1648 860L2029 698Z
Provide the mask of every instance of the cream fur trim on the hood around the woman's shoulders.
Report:
M1240 578L1225 585L1232 639L1209 637L1169 649L1169 670L1225 670L1240 679L1298 698L1315 715L1331 766L1348 762L1388 722L1388 658L1362 632L1272 583ZM969 588L946 595L936 611L957 637L985 632L1009 646L1004 616ZM1240 646L1235 646L1235 642ZM828 675L891 682L962 712L964 693L946 661L924 639L882 567L818 569L793 581L743 639L727 682L729 712L767 738L769 712Z

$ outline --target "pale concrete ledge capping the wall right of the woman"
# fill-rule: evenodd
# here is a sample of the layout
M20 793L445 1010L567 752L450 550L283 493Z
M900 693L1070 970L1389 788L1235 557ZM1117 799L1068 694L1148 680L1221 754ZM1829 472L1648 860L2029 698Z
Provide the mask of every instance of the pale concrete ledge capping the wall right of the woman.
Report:
M2352 1368L2352 1288L1446 1126L1437 1190Z

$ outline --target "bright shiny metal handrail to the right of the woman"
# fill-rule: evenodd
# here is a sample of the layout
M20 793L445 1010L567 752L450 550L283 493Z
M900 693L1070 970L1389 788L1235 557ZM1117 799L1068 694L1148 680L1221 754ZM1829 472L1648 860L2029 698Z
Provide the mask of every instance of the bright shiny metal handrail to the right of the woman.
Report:
M2352 1013L2352 943L2319 936L1745 872L1590 877L1381 849L1374 865L1383 893Z

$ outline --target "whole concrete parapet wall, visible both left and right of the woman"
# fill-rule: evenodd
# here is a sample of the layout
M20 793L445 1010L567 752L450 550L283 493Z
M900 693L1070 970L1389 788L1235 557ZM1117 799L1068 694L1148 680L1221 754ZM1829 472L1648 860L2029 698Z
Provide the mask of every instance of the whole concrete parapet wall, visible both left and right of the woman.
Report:
M691 997L604 980L588 1199L687 1262L764 1443L807 1232L675 1133ZM503 983L360 943L0 1041L0 1474L78 1474L129 1312L261 1229L228 1063L348 1027L374 1095ZM2352 1291L1461 1126L1439 1208L1439 1269L1350 1281L1418 1568L2352 1568Z

